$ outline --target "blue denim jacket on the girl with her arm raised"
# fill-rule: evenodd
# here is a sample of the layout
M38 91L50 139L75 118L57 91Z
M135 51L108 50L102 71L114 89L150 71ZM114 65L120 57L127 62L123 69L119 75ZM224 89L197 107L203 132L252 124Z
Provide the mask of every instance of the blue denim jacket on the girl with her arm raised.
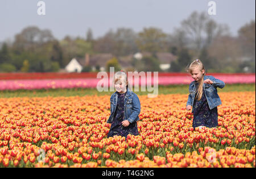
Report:
M214 78L213 76L204 76L204 80L210 79L213 81L213 84L205 84L203 85L204 91L205 91L205 97L207 98L207 102L209 105L210 110L214 107L217 107L221 105L221 99L217 94L217 87L218 88L224 88L225 82L218 80ZM196 84L195 81L192 81L189 85L189 95L188 95L188 101L187 106L191 105L193 107L193 102L196 95ZM193 109L192 109L193 112Z

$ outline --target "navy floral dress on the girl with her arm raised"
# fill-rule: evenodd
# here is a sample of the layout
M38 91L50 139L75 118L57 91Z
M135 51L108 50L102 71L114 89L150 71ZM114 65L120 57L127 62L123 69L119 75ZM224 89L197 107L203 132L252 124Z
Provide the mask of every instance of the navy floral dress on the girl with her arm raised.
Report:
M196 84L196 89L198 84ZM197 91L197 90L196 90ZM197 93L196 93L197 95ZM204 89L203 95L200 101L195 101L193 103L193 128L199 126L205 127L216 127L218 126L218 111L217 107L214 107L212 110L209 109L207 98L205 97Z

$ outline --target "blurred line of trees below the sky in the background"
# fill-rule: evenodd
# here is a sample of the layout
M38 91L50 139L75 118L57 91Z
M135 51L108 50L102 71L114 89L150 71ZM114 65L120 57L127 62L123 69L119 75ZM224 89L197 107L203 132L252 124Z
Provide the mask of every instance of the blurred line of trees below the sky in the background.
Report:
M57 40L50 30L36 26L24 28L11 43L0 48L0 72L58 72L73 57L85 53L111 53L115 58L108 65L118 65L118 58L137 52L150 52L151 57L132 65L139 70L159 70L158 52L177 56L170 72L185 72L192 59L200 59L208 72L255 73L255 20L245 23L237 36L230 35L226 24L219 24L205 13L193 12L181 21L171 34L148 27L141 32L131 28L109 30L95 39L89 28L84 37L65 36ZM85 67L89 71L89 66Z

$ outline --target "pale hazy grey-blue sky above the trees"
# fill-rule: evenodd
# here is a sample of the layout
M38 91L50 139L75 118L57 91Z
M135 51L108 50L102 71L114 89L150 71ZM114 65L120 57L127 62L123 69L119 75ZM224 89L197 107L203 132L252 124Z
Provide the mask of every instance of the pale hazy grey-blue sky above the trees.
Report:
M0 41L14 39L27 26L49 29L53 36L85 37L92 28L94 38L112 28L158 27L166 33L179 27L193 11L208 12L209 0L44 0L46 15L38 15L38 0L0 0ZM255 0L215 0L218 23L226 23L232 35L255 19Z

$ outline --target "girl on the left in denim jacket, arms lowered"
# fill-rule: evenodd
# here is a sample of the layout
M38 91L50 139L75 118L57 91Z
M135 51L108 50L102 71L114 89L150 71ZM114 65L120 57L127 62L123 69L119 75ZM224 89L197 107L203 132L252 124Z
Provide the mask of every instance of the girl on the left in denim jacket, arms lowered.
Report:
M115 93L110 97L110 116L107 123L111 123L108 137L128 134L139 135L137 121L141 112L138 96L128 88L125 72L114 75Z

